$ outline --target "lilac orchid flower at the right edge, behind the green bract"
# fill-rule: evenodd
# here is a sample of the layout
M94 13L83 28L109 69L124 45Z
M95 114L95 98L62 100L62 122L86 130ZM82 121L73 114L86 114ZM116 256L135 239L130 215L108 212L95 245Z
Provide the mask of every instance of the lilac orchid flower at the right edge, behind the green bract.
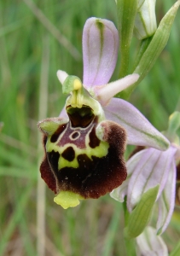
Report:
M175 120L175 121L174 121ZM171 125L173 122L173 125ZM180 113L170 116L169 127L180 125ZM175 132L169 128L166 132L171 141L171 146L166 151L156 148L146 148L134 154L127 161L128 177L121 187L111 192L113 199L123 202L127 196L127 208L132 212L141 201L142 195L157 185L160 185L156 202L159 207L159 216L156 224L157 233L163 233L170 223L174 210L176 196L176 163L180 160L180 145ZM140 219L142 222L142 218Z

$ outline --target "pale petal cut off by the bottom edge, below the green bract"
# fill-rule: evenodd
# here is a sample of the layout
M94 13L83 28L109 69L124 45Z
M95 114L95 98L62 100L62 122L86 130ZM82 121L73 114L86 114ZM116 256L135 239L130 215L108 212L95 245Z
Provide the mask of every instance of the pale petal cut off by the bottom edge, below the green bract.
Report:
M138 256L168 256L165 242L160 236L156 236L156 230L146 227L140 236L136 237Z

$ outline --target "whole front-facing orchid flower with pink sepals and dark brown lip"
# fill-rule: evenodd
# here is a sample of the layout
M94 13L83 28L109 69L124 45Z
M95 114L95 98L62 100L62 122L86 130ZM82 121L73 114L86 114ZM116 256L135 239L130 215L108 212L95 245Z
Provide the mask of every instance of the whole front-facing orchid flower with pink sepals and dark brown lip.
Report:
M90 18L83 32L83 83L58 71L62 92L70 94L58 118L38 123L44 134L40 172L62 207L99 198L126 178L126 143L165 150L169 142L129 102L113 98L138 74L108 83L116 66L119 33L113 22Z

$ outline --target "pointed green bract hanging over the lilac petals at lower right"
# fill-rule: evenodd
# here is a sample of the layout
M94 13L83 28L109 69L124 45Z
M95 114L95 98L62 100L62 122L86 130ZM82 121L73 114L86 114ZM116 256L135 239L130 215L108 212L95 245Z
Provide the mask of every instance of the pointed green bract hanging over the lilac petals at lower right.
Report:
M159 188L160 185L157 185L152 189L148 189L148 191L142 195L141 200L129 216L128 224L124 230L126 238L131 239L139 236L147 226L151 218Z

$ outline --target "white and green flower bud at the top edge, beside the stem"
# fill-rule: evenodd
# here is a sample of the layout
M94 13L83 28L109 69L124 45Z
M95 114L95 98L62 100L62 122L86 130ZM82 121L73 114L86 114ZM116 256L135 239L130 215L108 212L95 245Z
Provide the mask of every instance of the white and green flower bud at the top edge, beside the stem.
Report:
M139 1L134 34L139 40L151 37L157 29L155 16L156 0Z

